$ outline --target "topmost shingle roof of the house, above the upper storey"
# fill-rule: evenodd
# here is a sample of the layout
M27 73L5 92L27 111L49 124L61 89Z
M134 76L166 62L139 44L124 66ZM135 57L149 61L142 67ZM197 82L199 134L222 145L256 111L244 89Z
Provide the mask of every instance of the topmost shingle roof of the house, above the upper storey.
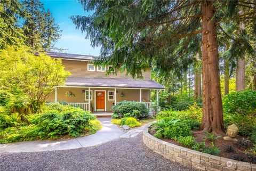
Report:
M38 53L36 53L37 55ZM58 53L58 52L46 52L46 55L52 58L63 58L63 59L75 59L75 60L93 60L96 56L92 55L80 55L72 53Z

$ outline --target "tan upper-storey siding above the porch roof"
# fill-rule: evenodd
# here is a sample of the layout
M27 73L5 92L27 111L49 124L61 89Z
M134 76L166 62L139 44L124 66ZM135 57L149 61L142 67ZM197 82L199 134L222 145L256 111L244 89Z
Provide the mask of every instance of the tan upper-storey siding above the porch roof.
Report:
M74 61L74 60L62 60L62 64L65 66L65 69L70 71L72 76L77 77L107 77L107 78L132 78L131 76L126 76L126 73L117 73L117 75L106 75L105 72L97 71L95 66L95 71L87 70L87 61ZM146 72L143 72L144 79L151 79L150 69L147 69Z

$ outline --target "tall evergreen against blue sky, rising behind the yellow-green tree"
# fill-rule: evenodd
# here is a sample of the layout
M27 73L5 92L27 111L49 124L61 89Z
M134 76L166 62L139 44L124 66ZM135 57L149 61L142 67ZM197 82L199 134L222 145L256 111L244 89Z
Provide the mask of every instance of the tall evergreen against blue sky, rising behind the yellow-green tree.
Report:
M53 48L53 43L60 36L61 31L49 10L45 12L43 4L39 0L25 0L23 5L29 13L23 24L23 30L28 37L26 45L34 51L47 50Z

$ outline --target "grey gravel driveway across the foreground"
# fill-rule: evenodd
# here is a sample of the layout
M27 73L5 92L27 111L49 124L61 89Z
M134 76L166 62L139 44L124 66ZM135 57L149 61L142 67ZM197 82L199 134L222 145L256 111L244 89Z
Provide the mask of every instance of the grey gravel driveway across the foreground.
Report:
M191 170L149 150L142 133L92 148L2 153L0 170Z

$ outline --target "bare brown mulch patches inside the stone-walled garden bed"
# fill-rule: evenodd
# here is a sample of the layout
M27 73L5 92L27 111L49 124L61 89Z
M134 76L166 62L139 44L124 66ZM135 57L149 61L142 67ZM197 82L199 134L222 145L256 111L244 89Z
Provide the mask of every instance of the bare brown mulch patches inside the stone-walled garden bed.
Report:
M211 146L211 141L208 141L206 139L206 135L204 132L202 132L202 131L192 131L192 132L193 132L193 136L195 137L197 142L204 141L206 147ZM154 127L150 129L149 133L151 135L154 135L156 133ZM183 146L174 140L170 140L170 139L161 139L161 140L175 144L175 145ZM255 155L254 155L254 157L252 157L252 156L249 157L244 153L244 151L252 148L251 141L247 140L245 137L239 136L239 135L237 136L237 140L239 140L239 142L242 142L242 144L247 144L247 145L242 145L241 143L238 143L238 142L226 141L223 139L223 137L220 137L219 139L214 141L214 145L220 147L221 151L219 153L219 156L233 159L233 160L251 162L253 164L256 164L256 156ZM248 142L248 143L246 143L246 142Z

